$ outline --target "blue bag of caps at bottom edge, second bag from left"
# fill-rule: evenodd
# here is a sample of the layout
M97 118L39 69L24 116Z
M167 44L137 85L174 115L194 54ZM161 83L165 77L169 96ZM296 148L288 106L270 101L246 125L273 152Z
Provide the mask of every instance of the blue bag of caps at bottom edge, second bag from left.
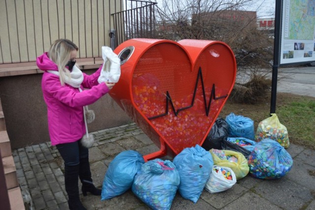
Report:
M132 192L154 210L169 210L180 183L179 173L169 160L154 159L135 175Z

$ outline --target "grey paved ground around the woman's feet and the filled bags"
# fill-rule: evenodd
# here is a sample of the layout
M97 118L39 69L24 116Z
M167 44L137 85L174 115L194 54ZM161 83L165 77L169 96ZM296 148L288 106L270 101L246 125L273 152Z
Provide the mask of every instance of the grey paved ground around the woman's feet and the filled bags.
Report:
M97 131L94 135L96 142L90 148L90 163L99 188L109 163L121 151L133 149L145 155L158 150L134 123ZM211 194L204 190L196 204L177 194L171 210L314 210L315 151L294 144L287 151L294 162L284 177L261 180L247 175L225 192ZM63 160L55 146L49 142L32 145L14 150L13 156L22 193L33 210L68 209ZM149 209L131 190L102 202L100 196L80 196L88 210Z

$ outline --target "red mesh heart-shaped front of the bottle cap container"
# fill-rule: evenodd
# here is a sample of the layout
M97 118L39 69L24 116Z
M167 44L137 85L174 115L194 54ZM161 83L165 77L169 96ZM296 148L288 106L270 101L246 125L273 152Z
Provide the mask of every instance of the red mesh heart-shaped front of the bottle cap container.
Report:
M159 43L139 59L132 75L132 98L175 153L204 139L234 80L231 56L224 45L210 45L192 70L185 50Z

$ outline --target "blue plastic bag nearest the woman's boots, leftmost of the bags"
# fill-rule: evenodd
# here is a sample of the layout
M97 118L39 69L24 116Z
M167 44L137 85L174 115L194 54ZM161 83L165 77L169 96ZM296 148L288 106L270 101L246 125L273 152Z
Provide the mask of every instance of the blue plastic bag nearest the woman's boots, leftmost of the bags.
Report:
M144 164L142 155L134 150L119 153L109 164L102 186L101 201L121 195L130 189L134 176Z

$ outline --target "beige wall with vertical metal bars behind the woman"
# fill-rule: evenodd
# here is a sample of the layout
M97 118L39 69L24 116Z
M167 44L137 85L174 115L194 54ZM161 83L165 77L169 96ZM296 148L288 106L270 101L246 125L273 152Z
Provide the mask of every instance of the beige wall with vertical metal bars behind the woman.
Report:
M80 58L101 57L110 46L110 14L124 0L0 0L0 64L34 61L51 43L67 38Z

